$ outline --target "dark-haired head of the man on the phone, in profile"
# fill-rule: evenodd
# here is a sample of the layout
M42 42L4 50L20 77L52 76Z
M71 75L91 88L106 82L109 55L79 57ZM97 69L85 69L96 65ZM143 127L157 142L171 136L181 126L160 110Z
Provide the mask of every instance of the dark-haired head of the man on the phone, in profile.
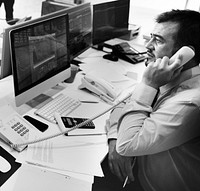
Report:
M200 13L172 10L156 18L156 25L147 43L150 60L171 57L182 46L193 46L195 63L200 63Z

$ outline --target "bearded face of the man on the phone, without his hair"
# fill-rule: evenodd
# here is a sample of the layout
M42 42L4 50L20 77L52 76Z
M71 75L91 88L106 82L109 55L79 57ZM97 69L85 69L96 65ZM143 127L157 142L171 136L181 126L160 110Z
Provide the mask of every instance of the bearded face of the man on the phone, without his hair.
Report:
M179 25L174 22L157 23L151 34L150 41L146 44L148 61L155 61L157 58L168 56L175 53L175 36Z

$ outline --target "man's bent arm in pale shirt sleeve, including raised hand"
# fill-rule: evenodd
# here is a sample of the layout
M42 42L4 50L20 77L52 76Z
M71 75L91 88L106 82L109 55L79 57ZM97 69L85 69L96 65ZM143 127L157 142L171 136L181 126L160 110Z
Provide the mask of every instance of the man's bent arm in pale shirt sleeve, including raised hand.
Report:
M199 115L195 104L171 96L171 99L167 98L170 100L167 104L163 102L156 111L152 111L153 89L171 82L180 72L180 69L176 71L178 64L172 67L167 61L166 58L158 59L156 65L148 65L142 83L135 88L123 109L117 139L117 151L121 155L137 156L165 151L195 136Z

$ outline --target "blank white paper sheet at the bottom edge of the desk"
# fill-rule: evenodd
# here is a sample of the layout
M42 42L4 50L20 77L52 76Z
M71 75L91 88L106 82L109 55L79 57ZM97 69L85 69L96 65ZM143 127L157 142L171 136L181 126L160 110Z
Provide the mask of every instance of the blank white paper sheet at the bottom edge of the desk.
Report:
M23 165L13 191L88 191L91 188L92 184L89 182Z

